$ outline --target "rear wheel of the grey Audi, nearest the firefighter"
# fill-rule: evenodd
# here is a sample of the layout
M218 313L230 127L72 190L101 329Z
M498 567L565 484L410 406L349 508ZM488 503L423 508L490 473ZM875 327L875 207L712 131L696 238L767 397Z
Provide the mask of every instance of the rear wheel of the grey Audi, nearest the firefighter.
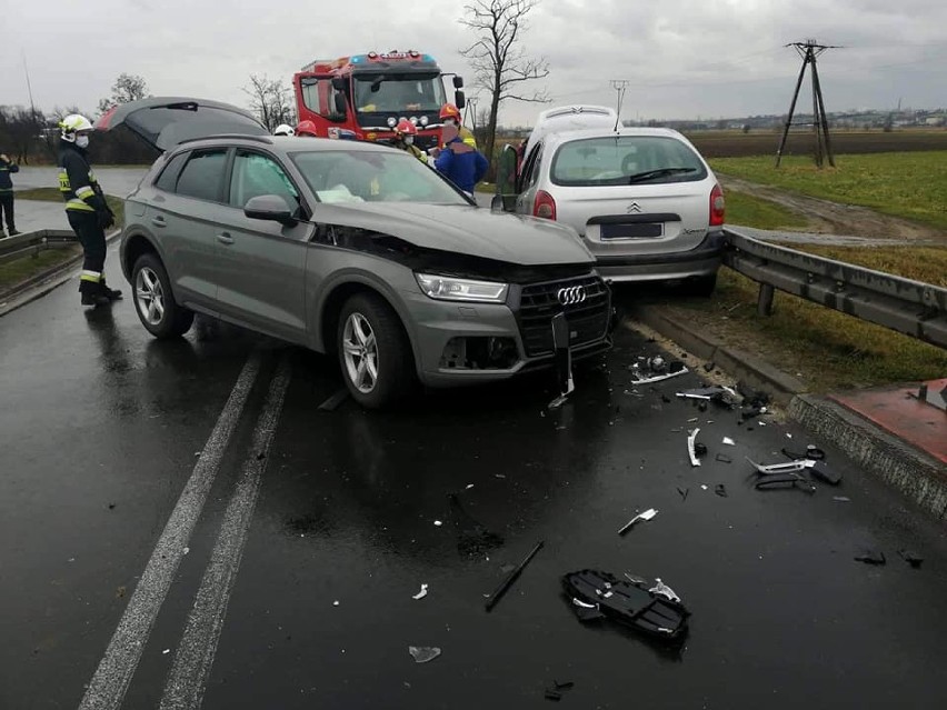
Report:
M156 253L141 254L134 262L131 298L141 324L159 340L183 336L195 321L193 311L175 300L171 280Z

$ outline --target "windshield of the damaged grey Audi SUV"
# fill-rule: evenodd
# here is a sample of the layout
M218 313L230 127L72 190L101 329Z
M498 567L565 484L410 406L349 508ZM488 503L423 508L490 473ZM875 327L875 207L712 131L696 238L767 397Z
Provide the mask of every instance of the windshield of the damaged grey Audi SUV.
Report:
M468 204L443 178L406 152L298 152L292 161L320 202Z

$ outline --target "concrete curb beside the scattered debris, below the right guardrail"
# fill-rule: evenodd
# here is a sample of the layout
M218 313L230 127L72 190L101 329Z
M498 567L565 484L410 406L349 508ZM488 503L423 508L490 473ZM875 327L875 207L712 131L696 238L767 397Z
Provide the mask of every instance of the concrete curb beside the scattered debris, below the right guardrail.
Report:
M916 502L937 520L947 520L947 471L925 454L837 402L808 394L794 377L756 356L727 348L715 338L649 306L632 318L695 356L714 361L721 370L769 393L791 419L814 434L831 440L864 470L877 476Z

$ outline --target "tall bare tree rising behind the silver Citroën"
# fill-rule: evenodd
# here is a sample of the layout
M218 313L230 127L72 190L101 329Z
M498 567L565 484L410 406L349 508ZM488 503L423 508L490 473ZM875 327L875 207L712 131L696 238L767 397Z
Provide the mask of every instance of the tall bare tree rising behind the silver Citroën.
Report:
M521 46L526 16L539 0L476 0L465 6L461 24L477 34L477 41L461 54L470 60L475 84L490 96L486 129L486 154L492 160L497 138L497 116L507 99L546 103L548 93L520 93L520 86L549 76L545 58L532 59Z

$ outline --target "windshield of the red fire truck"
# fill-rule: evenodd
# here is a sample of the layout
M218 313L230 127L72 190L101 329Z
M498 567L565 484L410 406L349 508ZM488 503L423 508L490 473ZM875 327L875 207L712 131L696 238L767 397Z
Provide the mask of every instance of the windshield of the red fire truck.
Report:
M355 104L359 114L431 112L445 102L443 84L435 73L355 76Z

